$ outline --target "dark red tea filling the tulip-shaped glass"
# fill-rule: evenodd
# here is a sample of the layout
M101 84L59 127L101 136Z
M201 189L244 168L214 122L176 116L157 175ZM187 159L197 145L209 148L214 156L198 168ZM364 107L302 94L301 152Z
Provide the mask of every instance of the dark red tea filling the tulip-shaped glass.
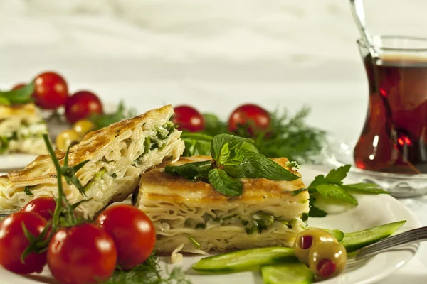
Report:
M427 173L427 58L364 58L369 109L354 148L358 168Z

